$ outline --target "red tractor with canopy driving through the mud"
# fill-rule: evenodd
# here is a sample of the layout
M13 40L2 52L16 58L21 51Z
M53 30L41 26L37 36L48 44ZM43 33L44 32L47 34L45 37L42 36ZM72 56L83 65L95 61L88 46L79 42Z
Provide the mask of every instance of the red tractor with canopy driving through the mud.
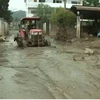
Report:
M39 17L26 17L20 20L19 33L14 37L19 47L22 46L50 46L50 42L45 39L40 27Z

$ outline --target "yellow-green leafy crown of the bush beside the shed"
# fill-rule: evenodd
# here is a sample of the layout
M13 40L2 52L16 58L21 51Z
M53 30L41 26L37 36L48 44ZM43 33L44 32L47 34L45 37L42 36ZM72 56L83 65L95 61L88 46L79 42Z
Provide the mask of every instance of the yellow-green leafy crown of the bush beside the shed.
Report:
M64 8L57 8L56 12L52 14L51 22L58 27L72 27L76 22L76 15Z

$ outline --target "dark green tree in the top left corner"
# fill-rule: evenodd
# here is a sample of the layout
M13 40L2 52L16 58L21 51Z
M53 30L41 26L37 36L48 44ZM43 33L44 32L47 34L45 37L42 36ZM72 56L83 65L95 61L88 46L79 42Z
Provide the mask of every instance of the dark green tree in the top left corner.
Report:
M12 20L12 12L8 10L9 0L0 0L0 17L3 17L7 22Z

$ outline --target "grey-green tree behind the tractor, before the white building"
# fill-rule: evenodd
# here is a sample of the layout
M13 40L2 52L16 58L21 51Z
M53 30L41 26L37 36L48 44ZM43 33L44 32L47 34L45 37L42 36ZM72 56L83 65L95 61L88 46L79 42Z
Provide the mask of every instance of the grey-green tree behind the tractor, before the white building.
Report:
M50 20L52 12L53 8L51 8L49 5L39 4L37 7L36 15L39 16L41 21L44 23Z

